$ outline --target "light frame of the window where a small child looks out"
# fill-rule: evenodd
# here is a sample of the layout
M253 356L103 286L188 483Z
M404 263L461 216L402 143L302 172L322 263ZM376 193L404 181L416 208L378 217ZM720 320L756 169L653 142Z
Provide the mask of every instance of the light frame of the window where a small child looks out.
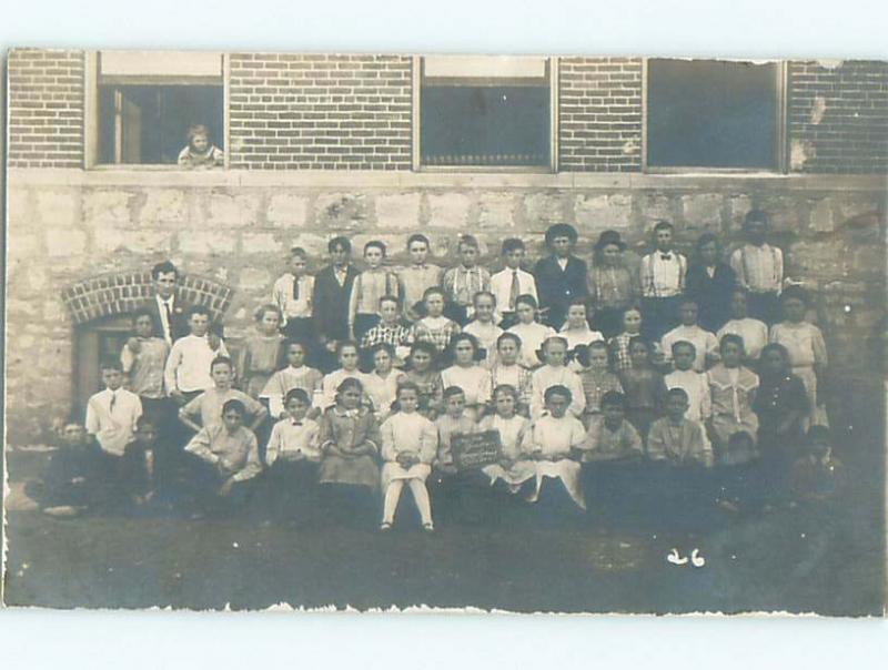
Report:
M148 170L157 172L192 172L186 168L181 168L172 163L102 163L99 161L99 135L100 135L100 119L99 119L99 51L89 51L85 57L84 69L84 104L83 104L83 169L84 170ZM222 140L224 145L224 163L219 170L231 169L231 156L229 155L229 145L231 144L231 85L230 73L231 63L228 53L222 53ZM215 78L209 81L209 78L190 78L189 83L198 85L215 84ZM130 78L130 81L135 81L135 78ZM145 75L140 83L145 85L163 85L170 81L175 81L174 78L158 78L154 75ZM180 80L181 81L181 80ZM186 84L184 84L186 85Z

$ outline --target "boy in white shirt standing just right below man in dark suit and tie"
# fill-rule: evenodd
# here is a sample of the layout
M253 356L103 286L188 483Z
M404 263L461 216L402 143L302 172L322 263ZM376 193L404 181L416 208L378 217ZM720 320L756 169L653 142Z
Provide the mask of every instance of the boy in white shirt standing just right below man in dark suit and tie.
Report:
M173 343L164 368L167 393L178 405L184 405L213 387L210 366L216 356L228 356L225 343L209 334L210 311L195 305L189 309L189 334Z

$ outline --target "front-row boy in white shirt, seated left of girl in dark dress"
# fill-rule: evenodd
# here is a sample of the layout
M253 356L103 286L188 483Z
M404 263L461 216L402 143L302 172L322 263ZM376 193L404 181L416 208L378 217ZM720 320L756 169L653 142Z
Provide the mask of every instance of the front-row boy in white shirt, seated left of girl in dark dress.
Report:
M321 427L306 416L312 403L305 389L290 389L284 406L286 416L274 424L265 448L269 507L274 516L309 520L321 461Z

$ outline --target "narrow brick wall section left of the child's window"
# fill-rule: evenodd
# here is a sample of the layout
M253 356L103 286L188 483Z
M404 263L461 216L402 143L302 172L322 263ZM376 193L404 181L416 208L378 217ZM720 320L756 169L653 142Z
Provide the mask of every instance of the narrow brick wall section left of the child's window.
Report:
M83 52L9 52L9 166L83 163Z

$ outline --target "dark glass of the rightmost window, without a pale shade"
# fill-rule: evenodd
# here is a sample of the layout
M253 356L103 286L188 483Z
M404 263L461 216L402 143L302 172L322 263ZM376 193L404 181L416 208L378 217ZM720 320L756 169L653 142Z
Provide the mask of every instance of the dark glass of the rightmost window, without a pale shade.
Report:
M646 111L650 169L781 168L779 63L650 59Z

